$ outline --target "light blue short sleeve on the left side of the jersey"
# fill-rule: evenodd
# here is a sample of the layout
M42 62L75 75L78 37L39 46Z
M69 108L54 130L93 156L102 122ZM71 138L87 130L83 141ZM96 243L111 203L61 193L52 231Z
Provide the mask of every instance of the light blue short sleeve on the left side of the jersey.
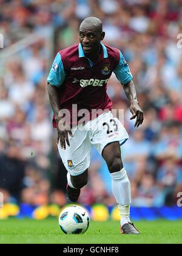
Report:
M55 57L52 68L50 69L47 82L55 87L60 87L63 84L65 77L66 73L64 71L61 54L58 53Z

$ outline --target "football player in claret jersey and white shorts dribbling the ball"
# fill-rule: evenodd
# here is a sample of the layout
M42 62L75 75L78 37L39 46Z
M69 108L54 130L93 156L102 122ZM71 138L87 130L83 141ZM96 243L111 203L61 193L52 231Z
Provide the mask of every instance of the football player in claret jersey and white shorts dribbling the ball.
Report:
M136 88L120 50L103 41L102 22L86 18L79 27L79 44L58 52L47 79L53 125L58 129L58 150L67 169L67 194L77 201L87 184L90 151L95 146L107 163L112 191L121 215L121 233L139 234L130 222L130 181L121 159L121 146L129 138L119 119L113 118L107 81L115 73L130 103L135 127L143 123Z

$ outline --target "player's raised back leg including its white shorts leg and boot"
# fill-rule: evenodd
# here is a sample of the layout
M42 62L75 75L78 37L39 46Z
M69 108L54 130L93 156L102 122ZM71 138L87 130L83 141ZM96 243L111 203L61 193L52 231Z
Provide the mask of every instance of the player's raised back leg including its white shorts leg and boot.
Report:
M87 184L88 170L90 165L90 150L92 144L86 130L72 130L73 137L69 136L70 146L66 150L61 149L58 143L59 154L67 169L67 196L75 202L79 198L81 188Z

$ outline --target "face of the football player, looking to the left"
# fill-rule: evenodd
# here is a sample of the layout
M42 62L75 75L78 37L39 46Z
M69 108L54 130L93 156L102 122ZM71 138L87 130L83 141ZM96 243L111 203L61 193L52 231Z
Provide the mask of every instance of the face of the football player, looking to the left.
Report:
M100 49L101 41L104 39L104 32L93 29L92 27L79 30L79 42L86 55L94 54Z

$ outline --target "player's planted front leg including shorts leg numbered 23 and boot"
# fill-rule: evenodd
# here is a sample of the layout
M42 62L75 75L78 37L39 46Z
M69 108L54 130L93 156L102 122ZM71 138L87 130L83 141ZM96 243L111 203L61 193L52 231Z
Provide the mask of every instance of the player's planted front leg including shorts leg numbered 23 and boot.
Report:
M124 233L138 234L130 223L130 182L121 160L121 144L129 138L126 129L112 113L104 113L96 118L96 128L92 133L92 144L103 155L112 177L112 190L121 214ZM119 142L120 141L120 142Z

